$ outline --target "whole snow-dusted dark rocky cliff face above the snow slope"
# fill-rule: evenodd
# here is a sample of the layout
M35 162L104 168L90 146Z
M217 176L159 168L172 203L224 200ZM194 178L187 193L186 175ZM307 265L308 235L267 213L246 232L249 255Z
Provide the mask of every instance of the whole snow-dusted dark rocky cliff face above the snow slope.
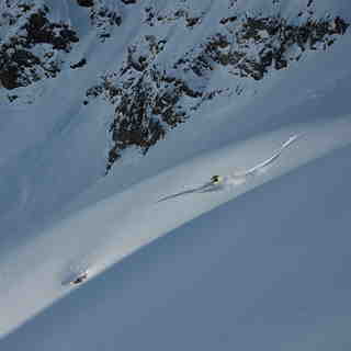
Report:
M269 14L244 11L231 0L226 11L217 13L216 22L211 22L208 34L206 21L213 10L194 7L193 2L180 0L172 9L165 9L157 1L75 1L97 42L103 45L113 46L118 31L128 30L124 21L133 11L143 19L143 34L118 53L122 59L116 59L107 72L101 67L97 83L86 87L87 109L99 99L114 110L106 172L126 148L137 147L146 154L206 101L222 94L235 99L245 93L242 81L269 79L271 71L298 65L310 52L322 55L349 27L340 15L316 16L318 4L313 0L290 18L281 14L276 0ZM9 102L19 97L18 88L30 89L37 81L57 77L63 69L75 75L77 68L89 66L86 57L68 59L71 49L80 45L81 34L67 19L52 15L52 10L45 1L34 0L7 0L1 8L0 82ZM179 39L173 38L177 31L196 35L196 41L180 48ZM177 55L172 56L173 47ZM218 70L230 86L211 84Z

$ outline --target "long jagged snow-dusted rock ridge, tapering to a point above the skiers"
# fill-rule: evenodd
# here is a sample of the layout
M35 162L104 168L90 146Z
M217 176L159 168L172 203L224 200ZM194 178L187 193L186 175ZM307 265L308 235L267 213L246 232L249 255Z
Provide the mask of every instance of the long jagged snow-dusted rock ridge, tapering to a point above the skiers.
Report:
M151 13L149 9L146 12ZM163 20L159 16L157 21ZM157 63L167 41L146 35L129 46L118 71L104 76L101 84L87 91L88 98L102 94L115 106L106 172L125 148L136 146L145 155L204 101L228 93L226 89L206 89L219 66L228 78L261 80L272 69L287 68L308 50L327 49L349 26L340 16L317 20L309 15L299 24L290 24L279 14L233 15L223 18L219 24L217 34L204 38L168 68ZM242 90L230 93L241 94Z

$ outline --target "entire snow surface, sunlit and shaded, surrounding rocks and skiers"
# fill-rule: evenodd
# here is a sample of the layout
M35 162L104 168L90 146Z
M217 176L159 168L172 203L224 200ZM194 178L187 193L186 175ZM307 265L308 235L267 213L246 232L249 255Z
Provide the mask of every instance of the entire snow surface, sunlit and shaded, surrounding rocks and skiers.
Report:
M88 68L23 89L32 104L0 105L0 350L349 350L349 32L250 93L205 104L103 177L112 111L83 106L82 87L141 35L140 5L106 45L73 1L59 3L87 32L70 55ZM224 13L194 3L211 9L208 24ZM346 0L316 11L351 20ZM167 25L165 63L202 35ZM225 182L192 191L213 174Z

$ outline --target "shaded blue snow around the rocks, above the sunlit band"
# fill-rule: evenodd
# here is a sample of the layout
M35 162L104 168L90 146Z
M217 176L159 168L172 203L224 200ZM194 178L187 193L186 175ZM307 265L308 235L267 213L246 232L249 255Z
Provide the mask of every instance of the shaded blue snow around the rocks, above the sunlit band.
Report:
M14 7L16 1L12 0L9 3ZM102 43L99 39L101 26L94 30L95 26L90 23L89 11L93 9L81 8L75 1L46 3L50 9L49 20L54 23L55 21L70 23L78 33L79 42L71 44L72 47L68 53L58 52L57 55L64 55L64 61L63 69L55 79L47 78L10 91L2 89L4 95L19 97L12 103L2 101L1 107L1 114L5 117L1 120L0 208L3 231L11 231L10 237L13 237L13 233L20 235L23 230L27 233L31 228L36 230L43 222L50 223L58 211L65 208L78 194L97 182L99 186L101 183L104 186L103 184L109 182L106 192L110 195L120 191L121 186L127 188L145 177L157 174L159 170L202 150L211 150L228 141L245 139L262 128L269 131L292 121L308 122L310 118L332 117L335 114L348 113L344 111L347 109L343 109L346 105L343 97L349 75L348 56L344 55L349 35L338 35L336 43L326 50L305 50L305 55L297 63L293 61L288 69L275 71L271 68L269 75L261 80L238 78L228 72L230 65L223 66L214 61L215 69L211 70L211 73L205 71L204 83L207 88L204 88L204 93L211 94L218 87L229 91L202 102L196 111L188 111L191 117L176 129L168 132L165 140L149 148L147 158L140 159L139 151L132 145L124 151L126 156L114 163L111 169L112 177L104 178L113 141L109 131L111 125L114 125L114 111L118 102L111 103L105 99L97 98L84 105L86 94L100 81L101 75L118 71L125 63L128 63L128 47L137 45L143 53L145 45L139 43L148 34L147 31L150 35L155 32L157 36L169 33L167 34L171 41L169 48L159 53L154 61L156 60L155 65L159 63L160 67L166 65L166 71L171 73L172 70L167 67L170 61L186 56L191 49L197 50L199 46L206 43L213 33L227 31L220 24L220 20L230 11L234 14L245 15L249 10L259 9L254 13L265 10L268 13L281 13L288 19L292 13L298 15L301 11L305 13L313 9L313 16L316 19L325 18L330 13L331 19L342 14L348 21L348 2L335 4L324 1L318 2L318 5L307 7L309 3L307 1L306 3L292 1L287 8L276 3L272 5L271 1L252 1L233 5L213 1L201 1L201 5L193 1L177 2L177 7L189 8L189 11L202 9L201 11L206 13L206 23L201 22L199 26L189 29L184 27L182 18L178 21L166 21L166 23L161 21L158 25L151 26L144 19L147 3L117 2L115 3L117 8L113 8L110 1L106 2L106 7L112 7L114 11L122 11L124 22L120 26L109 26L114 31L113 36L105 38ZM97 3L101 7L103 2ZM155 7L160 7L159 11L162 13L174 12L178 9L173 1L152 3ZM31 18L30 14L27 16ZM308 19L308 15L304 15L301 21L306 21L306 16ZM13 31L12 29L10 33ZM185 37L186 41L184 41ZM254 43L252 44L250 38L248 41L249 48L253 49ZM48 47L48 44L37 45ZM32 50L38 50L37 45ZM293 52L295 49L292 48ZM177 50L179 54L176 55ZM170 57L172 57L171 60ZM77 69L70 68L82 58L87 59L87 65ZM151 61L152 65L154 61ZM131 75L133 76L133 72ZM190 75L188 67L184 71L177 71L177 75L179 77L176 77L183 79L188 84L191 82L201 84L201 77L196 76L196 79L192 76L188 77ZM188 76L183 77L184 75ZM339 87L340 89L337 89ZM237 89L239 89L238 92L236 92ZM245 91L240 93L241 89ZM292 91L294 99L292 99ZM109 98L109 90L106 94ZM330 105L327 100L328 94L332 94L333 100L338 100L335 102L336 109L340 110L337 113L328 111ZM135 100L133 97L132 94L129 99L137 102L137 97L134 97ZM25 103L27 100L32 103ZM193 103L189 100L191 98L183 97L180 100L181 105L191 109L193 104L201 102L202 98L195 99ZM308 101L309 110L306 110L306 115L298 111L303 101L305 103ZM151 116L150 121L154 121L152 118ZM267 120L270 120L269 123ZM136 123L139 125L138 121ZM128 128L138 131L133 124ZM133 138L138 137L134 135ZM101 192L97 191L97 193ZM21 220L18 220L19 218Z

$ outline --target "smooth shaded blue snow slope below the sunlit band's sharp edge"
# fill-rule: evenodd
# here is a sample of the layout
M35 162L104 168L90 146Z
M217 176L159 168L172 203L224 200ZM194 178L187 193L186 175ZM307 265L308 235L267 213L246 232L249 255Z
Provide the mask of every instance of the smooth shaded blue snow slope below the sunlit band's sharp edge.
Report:
M2 348L348 350L350 151L176 229L48 308Z

